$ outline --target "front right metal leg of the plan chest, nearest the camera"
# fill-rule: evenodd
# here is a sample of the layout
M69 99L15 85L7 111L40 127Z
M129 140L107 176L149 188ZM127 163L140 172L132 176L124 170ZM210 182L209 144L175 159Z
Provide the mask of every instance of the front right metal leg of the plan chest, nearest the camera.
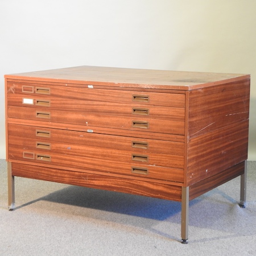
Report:
M181 243L188 243L188 207L189 187L182 187L181 190Z

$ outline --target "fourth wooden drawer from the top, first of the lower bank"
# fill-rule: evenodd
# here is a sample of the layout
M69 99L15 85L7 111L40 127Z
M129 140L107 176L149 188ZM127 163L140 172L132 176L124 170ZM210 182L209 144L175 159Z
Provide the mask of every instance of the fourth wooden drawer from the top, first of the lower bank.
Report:
M36 142L63 142L66 144L65 148L68 148L70 144L80 144L82 146L96 148L105 147L114 150L133 150L133 152L138 152L139 154L155 153L184 156L184 142L49 129L39 126L15 125L12 123L8 125L8 134L9 144L13 147L20 144L18 142L19 138L30 138ZM20 145L23 146L22 143Z

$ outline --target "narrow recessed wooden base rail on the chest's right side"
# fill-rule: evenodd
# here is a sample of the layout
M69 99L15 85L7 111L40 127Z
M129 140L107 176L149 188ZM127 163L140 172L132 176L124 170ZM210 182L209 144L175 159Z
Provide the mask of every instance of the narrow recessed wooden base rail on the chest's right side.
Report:
M229 180L234 179L244 173L245 162L239 163L236 166L230 167L208 179L202 180L189 187L189 200L203 195L204 193L218 187L221 184L226 183Z

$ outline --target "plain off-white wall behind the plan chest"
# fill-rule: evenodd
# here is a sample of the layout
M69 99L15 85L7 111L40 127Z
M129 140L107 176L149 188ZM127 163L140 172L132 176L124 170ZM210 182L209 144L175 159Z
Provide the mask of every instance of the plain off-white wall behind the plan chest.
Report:
M0 158L4 74L97 65L250 73L256 160L255 11L255 0L1 0Z

